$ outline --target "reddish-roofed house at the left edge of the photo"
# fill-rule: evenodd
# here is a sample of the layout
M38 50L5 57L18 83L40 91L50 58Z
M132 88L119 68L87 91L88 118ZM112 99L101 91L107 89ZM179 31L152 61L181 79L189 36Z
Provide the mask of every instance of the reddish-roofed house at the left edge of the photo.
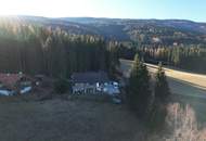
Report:
M0 74L0 94L26 93L31 85L31 78L24 74Z

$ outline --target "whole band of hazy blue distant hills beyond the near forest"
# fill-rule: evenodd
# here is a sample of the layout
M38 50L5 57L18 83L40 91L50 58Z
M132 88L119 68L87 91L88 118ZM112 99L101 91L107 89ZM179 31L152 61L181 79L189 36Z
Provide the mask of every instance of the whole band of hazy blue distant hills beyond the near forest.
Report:
M40 16L12 16L9 18L53 28L60 27L72 34L98 35L110 40L132 41L142 44L206 43L206 23L186 20L47 18Z

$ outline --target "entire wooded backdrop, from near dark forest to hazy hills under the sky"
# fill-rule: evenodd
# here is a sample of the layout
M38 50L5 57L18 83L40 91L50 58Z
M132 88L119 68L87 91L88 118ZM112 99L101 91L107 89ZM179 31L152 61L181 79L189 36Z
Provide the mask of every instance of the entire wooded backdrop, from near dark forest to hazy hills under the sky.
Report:
M149 63L206 73L206 26L190 21L44 18L0 20L0 72L69 76L113 72L138 52Z

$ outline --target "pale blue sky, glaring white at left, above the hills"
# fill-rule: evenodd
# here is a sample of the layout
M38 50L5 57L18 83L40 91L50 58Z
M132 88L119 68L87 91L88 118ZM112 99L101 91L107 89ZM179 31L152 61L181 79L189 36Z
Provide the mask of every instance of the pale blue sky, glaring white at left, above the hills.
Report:
M0 0L0 15L206 22L206 0Z

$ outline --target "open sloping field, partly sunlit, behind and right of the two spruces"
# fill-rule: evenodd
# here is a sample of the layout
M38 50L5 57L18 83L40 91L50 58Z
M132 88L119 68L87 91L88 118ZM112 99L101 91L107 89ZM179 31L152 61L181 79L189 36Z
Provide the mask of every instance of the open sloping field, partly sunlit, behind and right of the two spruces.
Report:
M146 64L154 78L154 73L157 72L157 65ZM120 69L126 77L129 77L132 66L132 61L120 60ZM169 88L171 91L171 99L175 102L190 104L195 112L198 123L206 123L206 75L194 74L182 69L164 67ZM154 80L154 79L153 79Z

